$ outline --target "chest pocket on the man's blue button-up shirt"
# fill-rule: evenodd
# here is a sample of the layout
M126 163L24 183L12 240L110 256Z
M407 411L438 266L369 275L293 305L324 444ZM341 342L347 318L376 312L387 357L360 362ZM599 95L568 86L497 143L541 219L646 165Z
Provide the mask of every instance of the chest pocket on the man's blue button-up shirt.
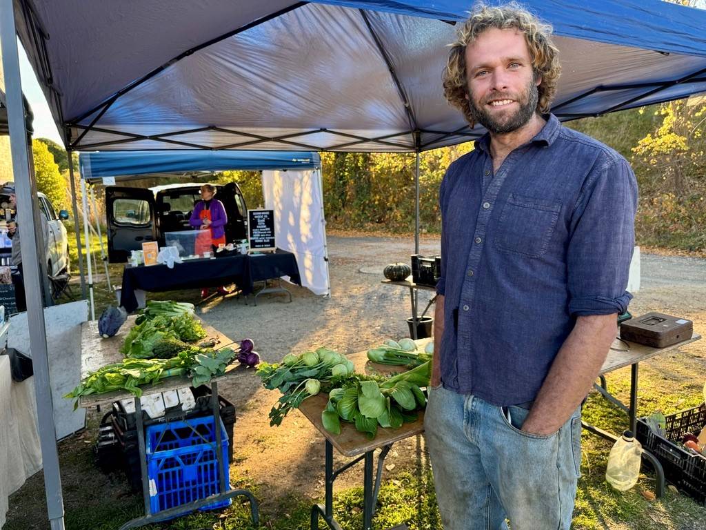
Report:
M498 221L495 246L530 258L542 256L549 247L560 211L561 201L510 194Z

